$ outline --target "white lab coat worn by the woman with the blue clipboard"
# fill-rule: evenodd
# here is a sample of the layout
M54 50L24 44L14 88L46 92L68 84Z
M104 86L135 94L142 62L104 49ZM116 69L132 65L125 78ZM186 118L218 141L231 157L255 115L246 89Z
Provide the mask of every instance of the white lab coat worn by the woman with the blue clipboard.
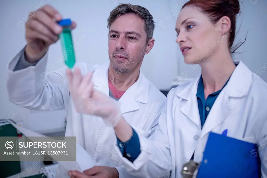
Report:
M136 177L181 178L181 168L193 153L201 162L207 136L212 131L257 143L262 177L267 177L267 84L241 61L219 94L201 130L197 86L191 83L172 88L153 135L155 141L140 137L141 153L131 163L121 154L125 168ZM256 156L256 152L252 152Z

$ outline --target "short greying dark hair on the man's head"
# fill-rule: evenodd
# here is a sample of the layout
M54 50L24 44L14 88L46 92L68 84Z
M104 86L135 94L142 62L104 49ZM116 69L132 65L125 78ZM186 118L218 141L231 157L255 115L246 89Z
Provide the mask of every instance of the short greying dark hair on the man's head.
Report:
M122 14L127 14L127 13L134 13L144 20L145 22L144 29L145 32L147 33L147 39L146 39L146 44L147 44L148 41L153 37L155 22L153 20L153 16L145 7L139 5L132 5L130 3L128 4L121 3L110 12L107 20L108 22L107 28L109 29L111 24Z

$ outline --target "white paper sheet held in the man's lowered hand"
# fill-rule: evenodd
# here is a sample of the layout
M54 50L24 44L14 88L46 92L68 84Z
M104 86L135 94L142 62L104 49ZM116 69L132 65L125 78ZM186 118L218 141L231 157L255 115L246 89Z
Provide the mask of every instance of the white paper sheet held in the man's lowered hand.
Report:
M17 130L21 131L26 137L46 137L45 135L33 132L31 130L25 129L21 126L10 122ZM51 138L51 140L53 140ZM92 168L94 166L92 158L89 154L80 146L76 145L76 161L58 161L58 169L55 178L69 178L69 170L77 170L83 172L86 169ZM53 158L53 155L50 155Z

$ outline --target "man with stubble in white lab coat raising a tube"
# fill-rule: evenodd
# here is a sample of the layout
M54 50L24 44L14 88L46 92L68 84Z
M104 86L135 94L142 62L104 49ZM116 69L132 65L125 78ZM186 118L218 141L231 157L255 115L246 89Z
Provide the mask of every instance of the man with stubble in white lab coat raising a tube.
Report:
M76 136L95 164L84 176L130 177L114 152L117 140L113 128L100 117L82 112L77 96L83 97L92 87L83 77L89 73L98 91L96 99L104 94L118 100L121 114L138 133L147 138L154 133L166 97L140 71L144 55L154 45L153 17L144 7L118 5L108 18L109 62L98 67L77 63L71 85L66 68L51 72L46 80L40 78L46 70L47 51L62 32L55 20L61 19L60 13L49 5L30 15L26 23L27 44L8 65L9 100L31 110L66 110L65 136ZM71 26L76 28L76 23ZM88 106L95 102L87 100Z

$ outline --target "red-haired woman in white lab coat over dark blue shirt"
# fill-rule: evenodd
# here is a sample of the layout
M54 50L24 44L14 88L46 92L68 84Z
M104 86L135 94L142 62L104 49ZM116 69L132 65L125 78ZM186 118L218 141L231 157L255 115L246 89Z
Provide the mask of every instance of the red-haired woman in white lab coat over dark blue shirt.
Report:
M114 127L129 173L181 177L183 164L202 161L209 133L227 129L227 136L259 145L261 174L267 176L267 84L231 57L239 11L238 0L191 0L183 6L176 42L185 63L199 64L201 74L169 92L153 141L131 128L111 99L88 108Z

